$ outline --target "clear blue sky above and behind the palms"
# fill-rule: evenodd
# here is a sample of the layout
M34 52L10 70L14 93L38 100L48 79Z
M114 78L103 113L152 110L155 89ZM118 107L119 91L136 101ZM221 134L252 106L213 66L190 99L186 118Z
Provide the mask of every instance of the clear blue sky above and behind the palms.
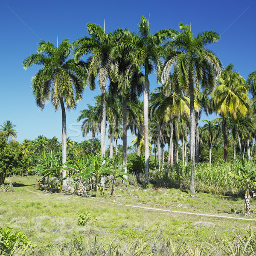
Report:
M137 32L141 16L150 14L151 32L160 29L178 29L179 22L191 24L192 32L215 30L221 40L212 44L212 49L224 66L235 65L245 79L256 70L256 1L13 1L0 3L1 62L0 62L0 124L11 120L17 125L18 141L34 140L38 135L61 140L61 111L55 112L49 103L40 111L31 92L31 78L39 67L24 71L23 59L37 51L40 39L57 44L64 38L73 42L87 35L86 24L97 23L106 32L116 28L128 28ZM25 25L26 24L26 25ZM150 90L157 87L150 76ZM80 142L82 136L71 131L80 131L76 122L79 111L93 104L92 99L100 94L97 89L84 90L77 109L67 113L67 136ZM204 119L203 116L202 119ZM211 118L211 117L209 117ZM130 132L128 132L128 136ZM88 139L88 138L87 138ZM131 145L132 138L128 138Z

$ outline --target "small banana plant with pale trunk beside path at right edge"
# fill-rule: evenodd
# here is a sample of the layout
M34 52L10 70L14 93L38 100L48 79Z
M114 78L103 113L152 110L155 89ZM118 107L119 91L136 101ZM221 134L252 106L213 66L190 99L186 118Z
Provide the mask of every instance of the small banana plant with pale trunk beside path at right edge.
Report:
M245 215L250 215L250 192L252 193L253 197L256 196L256 193L254 192L253 188L256 185L256 170L250 170L247 165L245 165L244 160L242 159L239 161L236 158L236 165L239 165L239 175L236 175L232 172L229 172L228 174L238 180L240 183L243 184L245 195L244 195L244 211Z

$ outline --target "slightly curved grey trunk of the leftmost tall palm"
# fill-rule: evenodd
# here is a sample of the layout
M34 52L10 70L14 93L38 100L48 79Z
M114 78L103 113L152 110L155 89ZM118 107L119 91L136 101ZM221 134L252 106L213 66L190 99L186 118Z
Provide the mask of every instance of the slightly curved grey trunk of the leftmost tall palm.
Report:
M61 112L62 112L62 164L67 162L67 120L66 120L66 111L63 98L60 98L61 102ZM62 178L67 176L67 171L62 170ZM63 191L67 191L67 180L63 180Z

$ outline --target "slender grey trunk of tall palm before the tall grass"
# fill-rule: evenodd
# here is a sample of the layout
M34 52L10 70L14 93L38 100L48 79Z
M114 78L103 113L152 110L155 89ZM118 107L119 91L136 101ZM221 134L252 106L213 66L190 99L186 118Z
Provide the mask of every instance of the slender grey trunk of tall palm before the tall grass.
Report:
M194 83L192 74L189 77L190 85L190 193L195 194L195 106L194 106Z

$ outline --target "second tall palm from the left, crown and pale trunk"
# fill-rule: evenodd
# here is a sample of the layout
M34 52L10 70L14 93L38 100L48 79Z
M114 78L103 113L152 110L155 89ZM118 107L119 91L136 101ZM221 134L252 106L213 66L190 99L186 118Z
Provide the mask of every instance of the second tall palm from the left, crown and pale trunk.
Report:
M111 56L113 49L119 47L118 41L127 33L127 30L117 29L113 33L108 34L93 23L87 23L87 32L90 37L84 36L73 42L75 47L74 58L76 61L84 54L91 54L87 60L88 65L88 81L90 89L95 89L95 79L98 77L99 88L102 91L101 96L101 155L106 153L106 87L107 80L111 73L116 73L116 61Z

